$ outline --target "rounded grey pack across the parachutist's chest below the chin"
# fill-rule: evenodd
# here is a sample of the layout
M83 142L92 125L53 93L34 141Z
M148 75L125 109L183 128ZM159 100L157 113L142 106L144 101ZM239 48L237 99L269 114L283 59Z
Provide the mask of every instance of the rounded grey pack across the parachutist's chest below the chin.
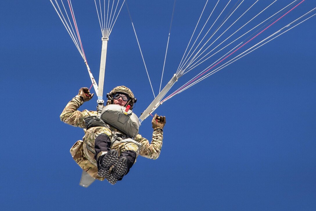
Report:
M138 134L138 117L131 110L126 111L124 106L114 104L104 106L101 119L133 138Z

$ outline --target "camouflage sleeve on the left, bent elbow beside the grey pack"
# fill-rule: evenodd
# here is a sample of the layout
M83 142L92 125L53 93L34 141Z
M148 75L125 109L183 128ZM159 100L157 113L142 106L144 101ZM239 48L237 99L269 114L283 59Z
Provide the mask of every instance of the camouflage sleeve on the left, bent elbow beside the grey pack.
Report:
M60 120L75 127L85 128L83 119L88 116L97 115L97 112L88 110L84 110L82 112L78 111L78 108L82 104L83 100L79 97L79 95L74 97L60 114Z

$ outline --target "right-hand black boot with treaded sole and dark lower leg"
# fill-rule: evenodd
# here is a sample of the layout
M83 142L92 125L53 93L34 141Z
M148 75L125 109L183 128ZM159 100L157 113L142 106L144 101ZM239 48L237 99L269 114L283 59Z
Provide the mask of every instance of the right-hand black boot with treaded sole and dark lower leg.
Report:
M115 163L112 172L106 177L106 179L114 185L117 181L122 180L123 176L127 175L130 168L133 166L136 160L136 152L132 150L126 150L122 152L119 160Z

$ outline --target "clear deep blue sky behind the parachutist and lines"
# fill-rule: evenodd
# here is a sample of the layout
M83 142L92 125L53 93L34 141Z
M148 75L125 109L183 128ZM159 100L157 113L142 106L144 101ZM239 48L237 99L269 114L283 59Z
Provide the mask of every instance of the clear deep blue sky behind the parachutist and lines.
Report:
M272 11L291 1L279 2ZM128 3L158 93L173 1ZM72 4L98 78L94 1ZM163 84L203 7L204 1L177 1ZM315 7L306 0L267 34ZM69 153L84 133L59 119L80 87L91 85L80 54L48 0L2 1L0 19L2 210L316 209L315 16L162 104L160 157L138 157L122 181L95 181L87 189L79 186L82 170ZM203 69L180 78L173 90ZM138 116L153 100L125 6L110 35L105 77L104 93L131 88ZM79 110L95 110L96 99ZM139 131L149 140L150 122Z

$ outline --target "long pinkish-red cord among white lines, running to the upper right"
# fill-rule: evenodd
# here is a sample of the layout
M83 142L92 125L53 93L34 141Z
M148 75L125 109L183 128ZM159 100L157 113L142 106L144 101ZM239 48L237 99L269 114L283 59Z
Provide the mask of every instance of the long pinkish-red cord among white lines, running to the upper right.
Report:
M266 28L264 28L262 31L260 31L257 35L255 35L254 37L252 37L250 40L248 40L247 42L245 42L243 45L241 45L239 48L235 49L232 53L228 54L228 56L226 56L225 58L223 58L221 61L217 62L215 65L213 65L212 67L210 67L209 69L207 69L206 71L204 71L202 74L194 77L192 80L190 80L189 82L187 82L184 86L182 86L181 88L179 88L178 90L176 90L175 92L173 92L172 94L170 94L167 98L163 99L161 101L164 102L167 99L171 98L173 95L179 93L182 89L184 89L186 86L190 85L192 82L194 82L195 80L197 80L199 77L201 77L202 75L204 75L205 73L207 73L208 71L210 71L210 69L212 69L213 67L215 67L216 65L218 65L219 63L221 63L222 61L224 61L226 58L228 58L230 55L234 54L237 50L239 50L240 48L242 48L243 46L245 46L248 42L252 41L254 38L256 38L258 35L260 35L262 32L264 32L266 29L270 28L270 26L272 26L274 23L276 23L277 21L279 21L281 18L283 18L284 16L286 16L289 12L291 12L292 10L294 10L297 6L299 6L301 3L303 3L305 0L302 0L300 3L298 3L297 5L295 5L291 10L289 10L288 12L286 12L283 16L279 17L276 21L274 21L273 23L271 23L269 26L267 26Z

